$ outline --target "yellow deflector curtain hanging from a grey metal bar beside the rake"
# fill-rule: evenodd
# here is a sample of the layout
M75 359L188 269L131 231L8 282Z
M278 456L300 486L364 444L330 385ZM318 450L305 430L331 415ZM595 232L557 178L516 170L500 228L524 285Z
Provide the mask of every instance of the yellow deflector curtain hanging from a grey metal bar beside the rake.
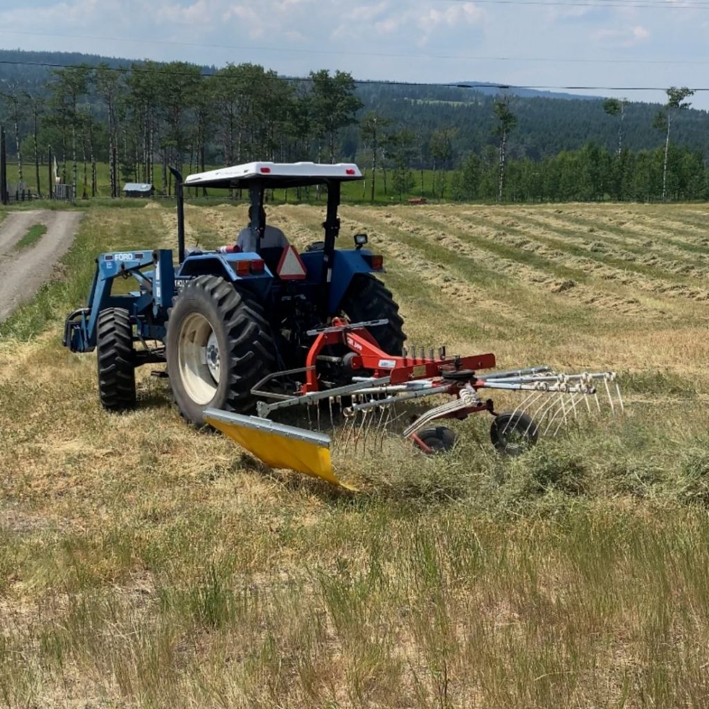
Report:
M330 437L267 418L207 408L204 420L228 435L269 468L286 468L351 490L333 471Z

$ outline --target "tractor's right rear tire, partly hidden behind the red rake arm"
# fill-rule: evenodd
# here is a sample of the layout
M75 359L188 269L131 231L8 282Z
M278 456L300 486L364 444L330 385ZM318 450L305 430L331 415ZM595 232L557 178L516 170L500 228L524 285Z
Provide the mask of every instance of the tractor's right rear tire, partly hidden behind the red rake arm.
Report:
M379 279L369 273L354 274L340 309L352 323L389 320L389 325L372 328L370 334L386 354L401 354L406 342L403 318L398 313L398 305L391 291Z

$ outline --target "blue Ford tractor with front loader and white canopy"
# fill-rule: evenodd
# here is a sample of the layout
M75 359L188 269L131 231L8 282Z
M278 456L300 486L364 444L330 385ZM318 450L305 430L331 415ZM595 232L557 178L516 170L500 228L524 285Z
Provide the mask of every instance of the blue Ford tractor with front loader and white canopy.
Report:
M406 335L398 306L376 273L382 259L354 235L354 248L336 249L342 182L362 179L354 164L252 162L177 180L177 263L169 249L104 253L96 259L89 300L67 317L64 345L97 350L104 408L135 406L135 368L166 363L180 413L203 425L205 408L252 413L252 389L276 372L302 369L313 332L335 317L386 323L372 331L381 350L399 354ZM291 246L264 247L264 194L271 189L320 186L327 193L324 239L298 254ZM247 190L250 243L191 250L184 244L184 187ZM113 292L122 279L137 289ZM115 289L125 291L125 289ZM318 358L321 386L342 384L346 353Z

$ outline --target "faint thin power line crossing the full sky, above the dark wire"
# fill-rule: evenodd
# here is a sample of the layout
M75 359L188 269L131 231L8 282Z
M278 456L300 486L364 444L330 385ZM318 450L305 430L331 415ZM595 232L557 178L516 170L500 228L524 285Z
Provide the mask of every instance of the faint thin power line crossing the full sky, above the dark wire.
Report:
M446 0L450 1L450 0ZM709 9L709 3L707 5ZM100 42L128 42L143 44L144 40L133 40L123 37L101 37L99 35L67 35L44 32L24 32L20 30L0 30L0 34L28 35L32 37L52 37L75 40L96 40ZM352 50L318 50L302 48L266 47L254 45L226 45L201 42L180 42L177 40L150 40L151 44L177 45L183 47L201 47L209 49L237 49L254 52L293 52L297 54L313 55L347 55L352 57L388 57L403 59L445 59L455 61L475 61L475 62L565 62L574 64L647 64L647 65L709 65L709 61L704 60L661 60L661 59L588 59L579 57L485 57L470 55L448 55L448 54L428 54L428 53L406 53L406 52L354 52Z

